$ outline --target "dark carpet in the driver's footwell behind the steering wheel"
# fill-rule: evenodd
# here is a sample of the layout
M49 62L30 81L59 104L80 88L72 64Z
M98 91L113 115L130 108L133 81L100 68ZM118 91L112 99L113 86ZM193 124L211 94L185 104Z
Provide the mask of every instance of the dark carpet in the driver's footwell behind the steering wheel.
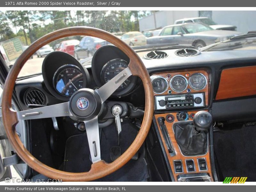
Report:
M137 130L130 120L122 123L120 133L120 147L122 153L131 145L137 135ZM110 148L118 146L118 136L116 125L111 124L101 130L100 151L101 159L111 163ZM67 172L86 172L91 168L90 151L86 133L71 136L67 140L64 171ZM147 181L148 167L145 160L145 149L142 146L139 150L138 160L130 160L116 172L96 181Z

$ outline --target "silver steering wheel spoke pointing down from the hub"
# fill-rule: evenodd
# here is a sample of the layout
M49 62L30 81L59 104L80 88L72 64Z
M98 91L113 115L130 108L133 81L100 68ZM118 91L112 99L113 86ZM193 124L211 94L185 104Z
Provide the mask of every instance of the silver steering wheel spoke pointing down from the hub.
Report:
M84 121L84 124L89 143L92 163L96 163L101 160L98 116L94 117L92 120Z

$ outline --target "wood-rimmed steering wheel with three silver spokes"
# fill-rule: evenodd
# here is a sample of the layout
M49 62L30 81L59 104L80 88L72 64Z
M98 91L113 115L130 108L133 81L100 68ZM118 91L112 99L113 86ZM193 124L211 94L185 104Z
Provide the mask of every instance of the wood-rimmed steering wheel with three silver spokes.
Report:
M116 75L108 83L104 84L97 91L92 89L80 89L76 91L70 100L65 103L56 105L29 109L25 111L14 111L12 109L12 92L15 85L15 80L25 64L25 62L42 46L59 38L67 36L94 36L104 39L121 49L129 58L130 63L127 68ZM133 141L132 145L114 162L106 163L100 158L100 139L99 139L99 126L98 126L98 114L102 107L102 103L108 99L108 97L115 92L115 90L131 75L139 76L143 82L145 89L146 103L145 114L143 122L138 135ZM80 110L77 107L78 100L81 98L87 98L89 107L85 110ZM86 101L86 102L87 102ZM2 114L4 128L12 147L15 149L20 158L26 162L32 169L37 172L53 179L62 179L64 181L90 181L102 178L126 164L133 155L138 151L146 136L148 134L154 110L154 96L152 84L147 69L143 62L133 51L133 49L125 44L118 37L97 29L89 27L71 27L64 28L52 33L49 33L26 49L20 57L16 60L11 71L9 72L4 84L4 91L2 97ZM51 168L32 156L29 151L24 147L20 141L17 133L15 132L15 125L19 120L60 117L60 116L76 116L77 119L84 121L88 143L90 148L90 154L92 157L92 167L89 172L72 173L64 172L54 168Z

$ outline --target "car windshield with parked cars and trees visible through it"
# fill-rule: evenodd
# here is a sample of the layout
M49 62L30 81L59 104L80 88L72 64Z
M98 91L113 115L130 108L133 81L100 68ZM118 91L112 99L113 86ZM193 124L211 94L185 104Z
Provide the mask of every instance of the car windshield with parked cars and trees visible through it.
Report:
M172 49L173 44L200 49L249 30L256 30L253 22L245 22L252 15L256 16L256 11L5 11L2 8L0 52L11 68L20 54L40 37L58 29L75 26L108 31L132 46L135 51L140 50L141 57L151 51L152 47L161 48L161 44L163 49ZM178 23L176 20L179 20L178 25L174 25ZM216 26L216 23L221 25ZM66 52L84 62L85 59L92 58L100 47L109 44L90 36L69 36L55 40L31 56L19 77L41 73L44 58L51 52ZM239 39L218 45L211 51L255 49L255 45L255 39ZM88 63L90 61L85 64Z

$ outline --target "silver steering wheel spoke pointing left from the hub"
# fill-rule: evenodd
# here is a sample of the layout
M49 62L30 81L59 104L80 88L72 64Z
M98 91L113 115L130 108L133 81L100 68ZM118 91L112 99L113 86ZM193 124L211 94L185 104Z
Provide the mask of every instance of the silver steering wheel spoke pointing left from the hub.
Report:
M17 112L18 120L72 116L68 102Z

